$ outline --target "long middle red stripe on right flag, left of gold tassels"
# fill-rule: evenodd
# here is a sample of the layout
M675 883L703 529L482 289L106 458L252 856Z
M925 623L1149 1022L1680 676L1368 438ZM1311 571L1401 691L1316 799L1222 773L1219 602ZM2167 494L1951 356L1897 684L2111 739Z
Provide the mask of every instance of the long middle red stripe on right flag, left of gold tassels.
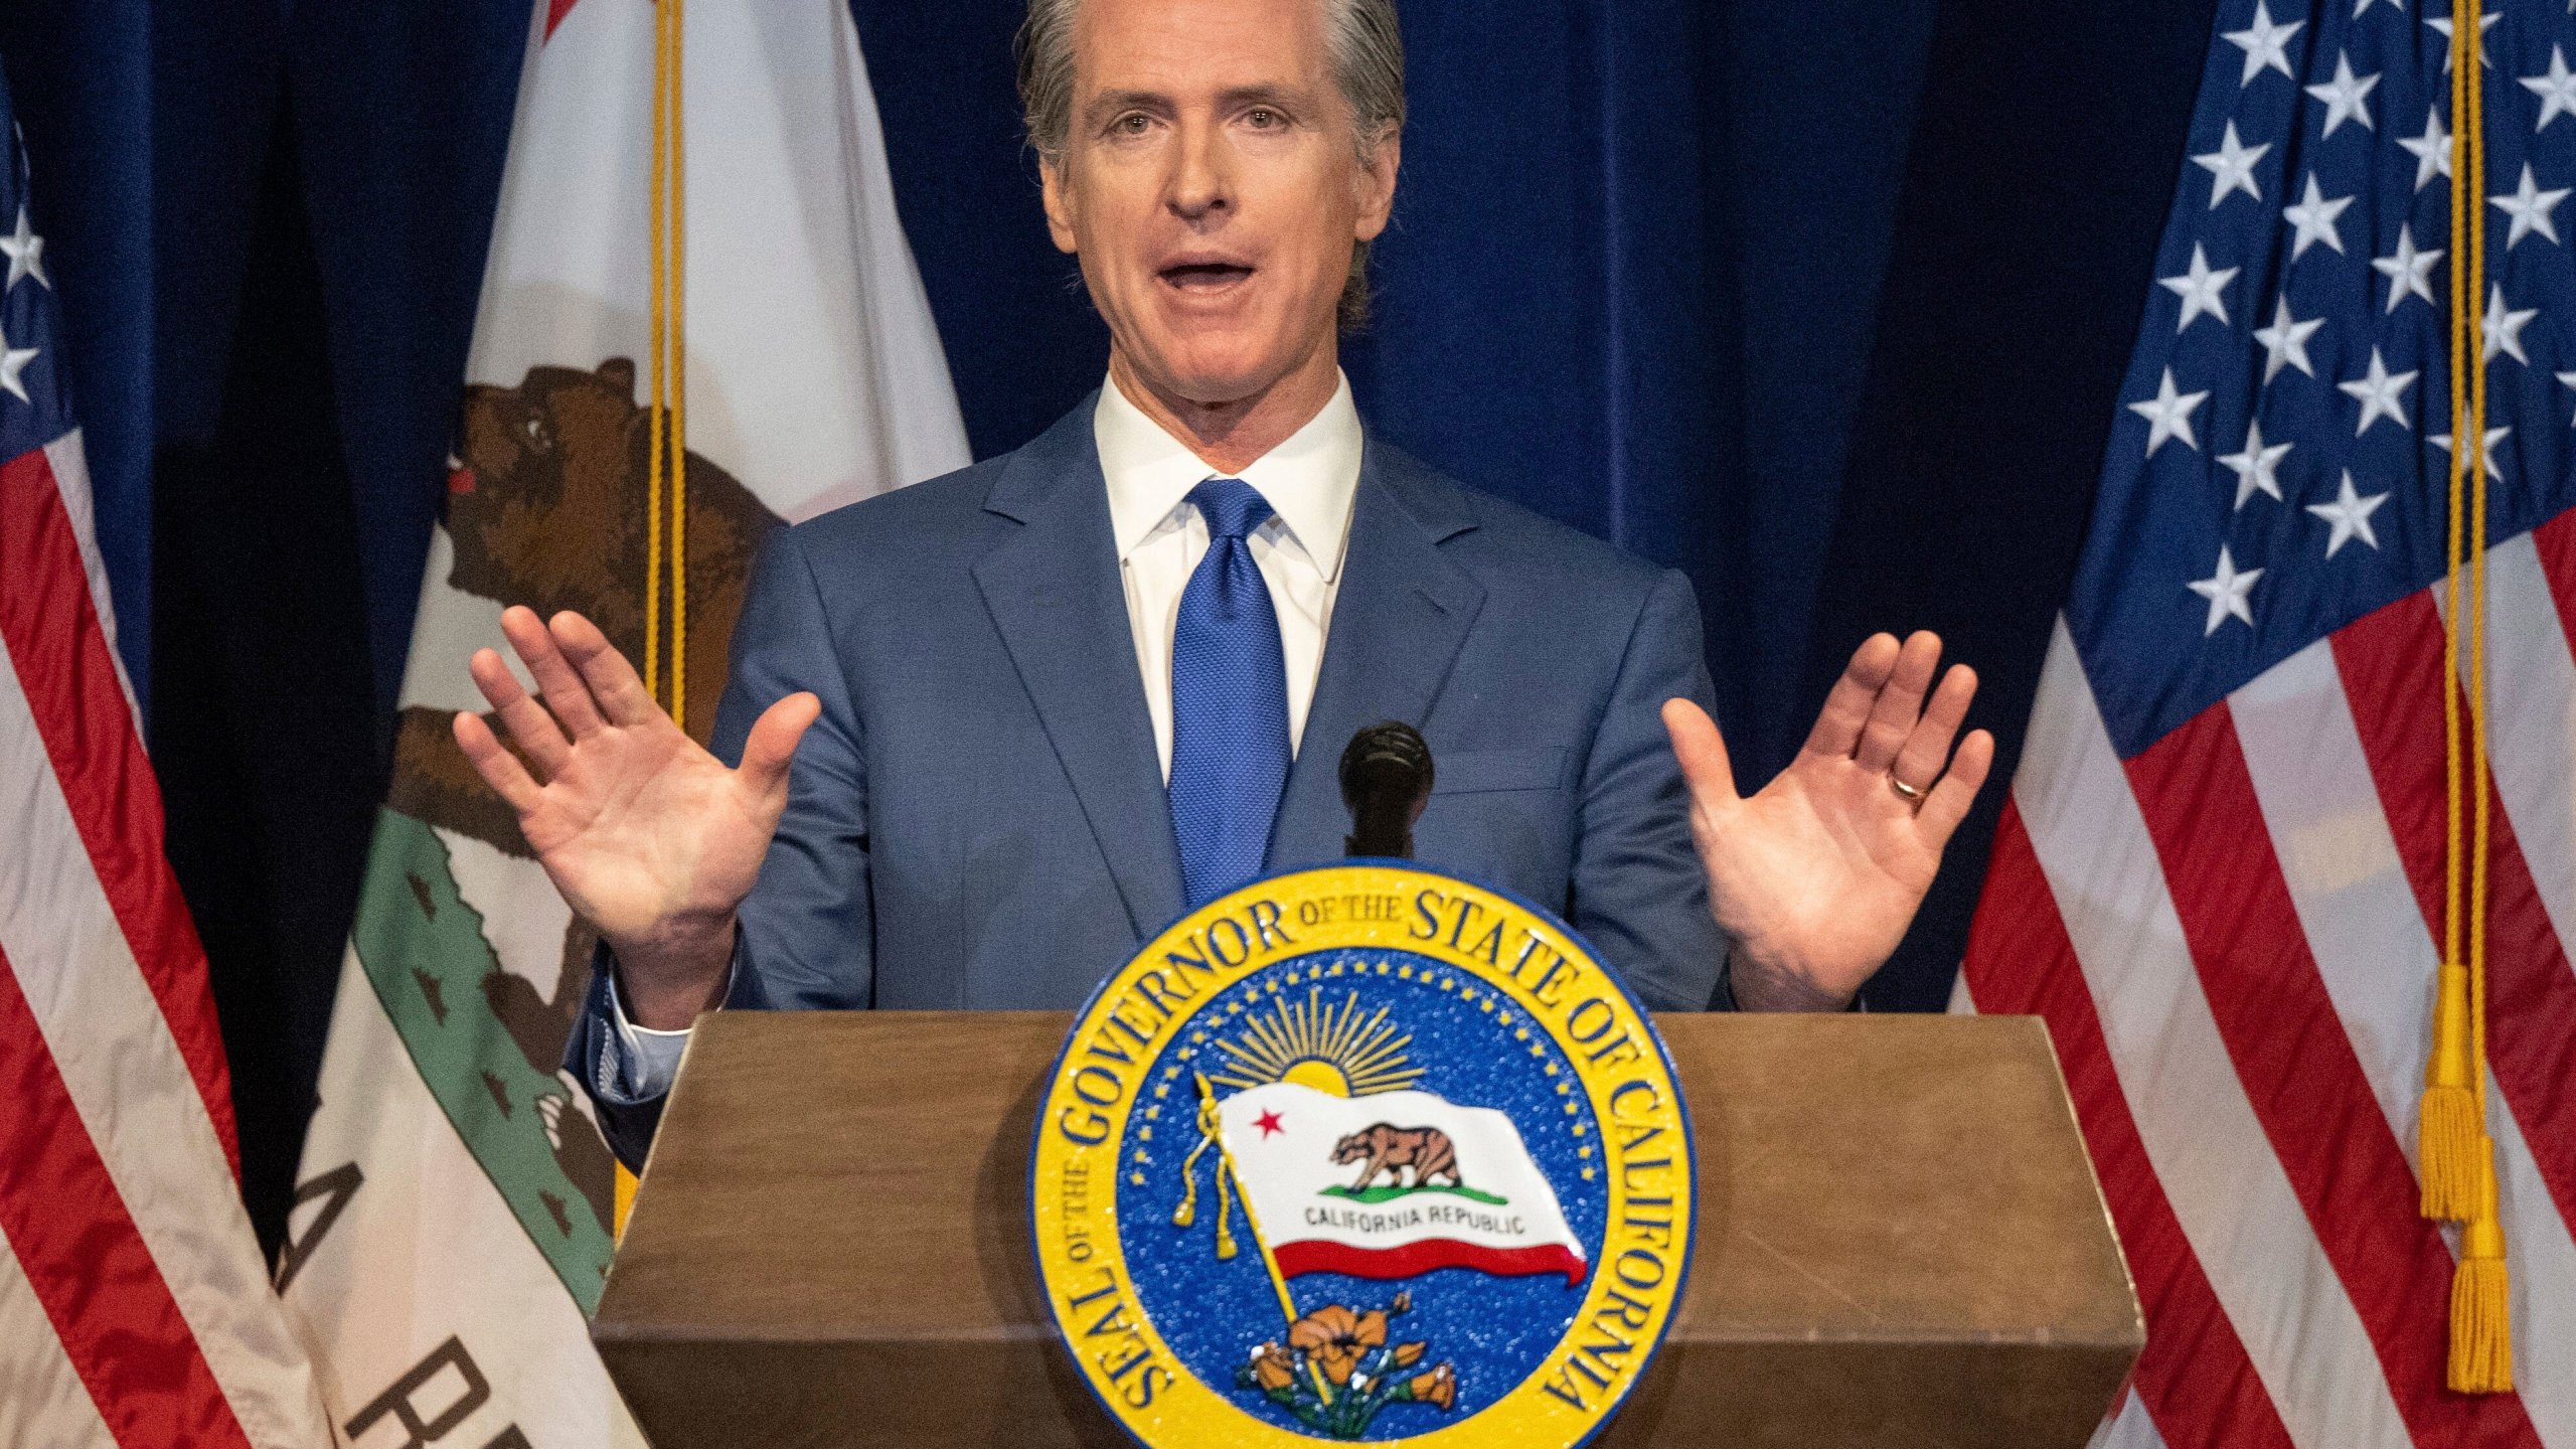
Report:
M2416 1444L2537 1446L2519 1397L2445 1387L2452 1256L2308 954L2226 701L2128 779L2218 1036Z

